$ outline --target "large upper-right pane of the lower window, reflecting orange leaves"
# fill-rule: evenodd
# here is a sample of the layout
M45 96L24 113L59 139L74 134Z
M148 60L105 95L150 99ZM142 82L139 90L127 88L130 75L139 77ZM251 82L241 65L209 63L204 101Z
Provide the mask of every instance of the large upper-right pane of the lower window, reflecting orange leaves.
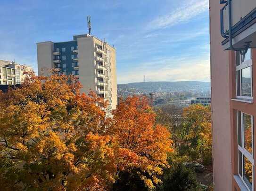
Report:
M244 118L244 148L252 154L252 116L243 114Z

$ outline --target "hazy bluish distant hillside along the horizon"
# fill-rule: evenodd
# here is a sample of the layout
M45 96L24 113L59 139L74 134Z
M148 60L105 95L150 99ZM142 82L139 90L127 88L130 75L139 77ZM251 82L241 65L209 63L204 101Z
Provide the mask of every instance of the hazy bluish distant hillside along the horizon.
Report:
M138 82L118 84L119 90L136 89L144 92L172 92L172 91L209 91L210 82L182 81L182 82Z

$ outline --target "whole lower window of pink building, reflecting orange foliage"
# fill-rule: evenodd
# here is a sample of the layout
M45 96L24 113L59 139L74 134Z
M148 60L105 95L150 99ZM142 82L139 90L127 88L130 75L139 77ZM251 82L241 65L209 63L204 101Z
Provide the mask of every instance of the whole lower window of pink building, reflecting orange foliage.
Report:
M253 116L237 111L238 172L249 190L253 191Z

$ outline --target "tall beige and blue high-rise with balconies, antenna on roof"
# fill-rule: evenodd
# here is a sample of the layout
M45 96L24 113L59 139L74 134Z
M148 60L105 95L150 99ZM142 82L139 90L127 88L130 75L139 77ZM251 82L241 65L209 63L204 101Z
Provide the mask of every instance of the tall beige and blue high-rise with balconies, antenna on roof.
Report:
M77 35L67 42L37 43L38 74L74 75L83 85L82 92L96 92L109 102L107 110L117 105L116 50L89 34ZM53 69L53 70L51 70Z

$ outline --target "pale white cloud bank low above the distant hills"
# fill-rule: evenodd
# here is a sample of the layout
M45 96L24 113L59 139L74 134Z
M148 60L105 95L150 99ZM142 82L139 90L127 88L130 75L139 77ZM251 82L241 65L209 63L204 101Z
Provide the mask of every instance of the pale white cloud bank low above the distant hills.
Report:
M134 72L136 71L136 72ZM132 71L119 72L118 84L147 81L210 81L210 60L205 54L202 58L161 58L141 64Z

